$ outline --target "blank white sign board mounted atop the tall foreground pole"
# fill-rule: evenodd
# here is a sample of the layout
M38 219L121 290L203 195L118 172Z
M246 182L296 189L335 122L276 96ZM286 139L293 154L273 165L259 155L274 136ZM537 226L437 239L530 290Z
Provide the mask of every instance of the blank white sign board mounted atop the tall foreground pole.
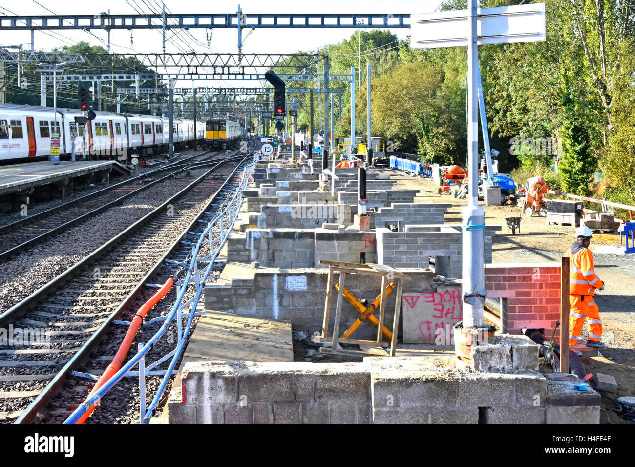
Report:
M415 49L467 46L469 10L411 15L410 46ZM540 42L545 32L545 4L478 9L478 45Z

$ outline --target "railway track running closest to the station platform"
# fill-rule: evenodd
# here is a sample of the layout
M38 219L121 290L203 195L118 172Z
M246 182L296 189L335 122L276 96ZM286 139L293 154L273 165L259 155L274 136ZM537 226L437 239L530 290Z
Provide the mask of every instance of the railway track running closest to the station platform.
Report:
M161 184L185 168L196 166L196 163L218 156L218 154L208 154L209 151L195 154L184 161L156 168L132 179L105 187L95 193L0 227L0 261L5 261L28 250L65 229L77 226L98 213L119 205L128 198L137 196L149 187ZM161 176L162 172L168 172L168 174Z

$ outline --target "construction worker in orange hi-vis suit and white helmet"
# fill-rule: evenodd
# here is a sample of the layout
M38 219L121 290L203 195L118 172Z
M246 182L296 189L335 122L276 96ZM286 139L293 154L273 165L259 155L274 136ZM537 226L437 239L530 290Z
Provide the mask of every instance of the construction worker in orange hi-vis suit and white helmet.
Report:
M595 273L591 245L591 229L587 226L575 230L576 242L565 255L570 257L569 264L569 347L573 348L580 339L584 320L589 319L587 347L604 347L599 341L602 337L602 321L599 319L598 305L594 300L596 289L603 290L604 282Z

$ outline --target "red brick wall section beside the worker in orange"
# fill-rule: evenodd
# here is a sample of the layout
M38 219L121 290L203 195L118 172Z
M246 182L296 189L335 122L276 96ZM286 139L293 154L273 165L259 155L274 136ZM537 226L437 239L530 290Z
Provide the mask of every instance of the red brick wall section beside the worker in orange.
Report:
M560 319L559 263L486 264L485 290L488 298L507 299L502 325L511 334L552 328Z

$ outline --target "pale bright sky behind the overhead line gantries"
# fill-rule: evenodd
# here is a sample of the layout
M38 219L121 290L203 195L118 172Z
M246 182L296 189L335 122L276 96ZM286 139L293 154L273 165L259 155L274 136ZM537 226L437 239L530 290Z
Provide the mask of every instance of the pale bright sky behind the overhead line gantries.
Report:
M243 0L240 6L243 13L358 13L390 15L396 13L425 13L438 8L441 0L321 0L305 2L298 6L297 0ZM19 3L0 0L0 13L5 15L98 15L102 11L98 5L108 6L110 13L158 13L161 0L110 0L107 3L86 3L60 0L24 0ZM166 0L166 9L171 13L235 13L239 3L220 1L201 2L192 0ZM206 5L201 8L201 5ZM50 10L50 11L48 11ZM174 30L172 33L176 32ZM316 51L326 44L338 43L354 34L355 29L243 29L243 53L292 53L298 50ZM36 31L36 50L87 41L91 45L106 48L107 33L103 30L91 30L93 34L82 30ZM410 33L410 29L392 29L399 39ZM170 34L172 34L170 33ZM181 30L177 37L166 43L167 53L180 53L194 50L198 53L237 53L237 30L215 29L210 37L205 29L190 29L189 35ZM101 40L100 40L101 39ZM30 31L0 32L0 45L30 44ZM210 41L209 46L208 40ZM161 53L163 36L160 29L152 30L112 30L110 33L111 51L114 53ZM362 57L363 61L363 57ZM235 86L251 87L257 81L198 81L197 86ZM190 86L185 81L177 87Z

